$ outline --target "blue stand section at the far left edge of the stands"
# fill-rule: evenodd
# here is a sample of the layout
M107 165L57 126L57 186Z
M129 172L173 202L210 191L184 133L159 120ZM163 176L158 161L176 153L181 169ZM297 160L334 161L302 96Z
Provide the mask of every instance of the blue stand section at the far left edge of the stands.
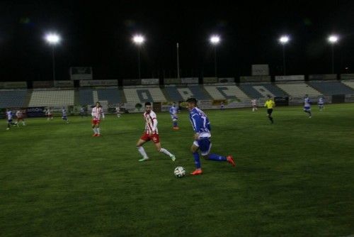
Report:
M0 108L23 107L27 90L1 91Z

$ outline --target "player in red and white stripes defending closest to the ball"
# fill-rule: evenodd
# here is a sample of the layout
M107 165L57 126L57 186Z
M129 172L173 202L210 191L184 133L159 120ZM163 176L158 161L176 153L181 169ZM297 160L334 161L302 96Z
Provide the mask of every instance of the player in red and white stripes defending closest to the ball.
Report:
M145 152L142 145L149 140L155 144L156 150L160 153L164 153L165 155L169 155L172 161L176 160L175 155L171 154L169 150L165 148L161 148L161 143L159 139L159 131L157 129L157 118L154 111L152 111L152 104L150 102L145 103L145 112L144 112L144 119L145 119L145 131L142 136L137 141L137 150L142 155L142 159L139 161L146 161L149 160L147 153Z

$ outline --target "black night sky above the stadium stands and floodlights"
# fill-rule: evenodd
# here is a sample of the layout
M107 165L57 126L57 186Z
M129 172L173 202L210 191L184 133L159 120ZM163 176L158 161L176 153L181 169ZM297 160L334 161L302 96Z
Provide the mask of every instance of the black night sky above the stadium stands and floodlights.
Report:
M176 77L176 43L181 77L214 75L213 33L219 77L251 75L252 64L269 64L282 75L280 35L286 45L288 75L354 72L354 1L0 1L0 81L52 79L47 32L62 36L55 47L57 79L69 67L93 67L93 79L137 78L132 35L147 38L141 51L142 78ZM264 1L265 2L265 1ZM348 67L348 69L346 69Z

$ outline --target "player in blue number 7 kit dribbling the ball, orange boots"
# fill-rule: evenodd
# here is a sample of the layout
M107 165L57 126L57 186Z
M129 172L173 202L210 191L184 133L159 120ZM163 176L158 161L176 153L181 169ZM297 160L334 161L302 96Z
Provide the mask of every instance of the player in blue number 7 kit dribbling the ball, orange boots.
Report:
M235 166L234 159L231 155L227 157L217 154L210 154L210 148L212 148L212 143L210 141L211 137L211 128L209 118L204 112L198 109L197 99L190 98L187 99L187 109L189 110L189 119L190 123L192 123L193 131L194 131L194 142L192 147L190 148L193 153L193 158L195 162L195 171L190 173L191 175L201 175L202 167L200 165L200 158L198 150L205 160L215 160L215 161L227 161L231 165Z

